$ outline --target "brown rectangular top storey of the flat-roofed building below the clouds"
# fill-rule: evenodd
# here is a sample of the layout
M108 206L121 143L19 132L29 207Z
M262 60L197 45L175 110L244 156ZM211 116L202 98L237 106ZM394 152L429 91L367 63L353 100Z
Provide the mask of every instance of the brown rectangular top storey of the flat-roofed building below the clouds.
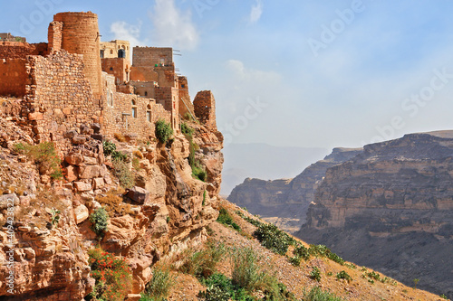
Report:
M132 65L135 67L170 66L173 64L173 49L160 47L134 47Z

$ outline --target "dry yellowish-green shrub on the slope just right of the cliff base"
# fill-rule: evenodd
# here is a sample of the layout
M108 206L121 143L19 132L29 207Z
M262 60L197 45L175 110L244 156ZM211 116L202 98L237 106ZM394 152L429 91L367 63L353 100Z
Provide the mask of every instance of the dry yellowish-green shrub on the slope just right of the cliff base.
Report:
M217 263L226 254L223 243L207 241L207 249L193 252L192 249L186 251L186 259L179 268L185 274L195 277L209 277L216 272Z

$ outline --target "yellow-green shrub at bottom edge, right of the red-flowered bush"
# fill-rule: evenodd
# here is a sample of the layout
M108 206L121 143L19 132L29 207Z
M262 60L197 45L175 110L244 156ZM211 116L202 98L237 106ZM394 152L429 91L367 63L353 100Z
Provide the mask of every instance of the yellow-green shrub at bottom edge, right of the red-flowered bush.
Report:
M157 267L153 269L152 279L146 285L145 296L154 301L164 301L169 296L170 288L175 284L168 268Z

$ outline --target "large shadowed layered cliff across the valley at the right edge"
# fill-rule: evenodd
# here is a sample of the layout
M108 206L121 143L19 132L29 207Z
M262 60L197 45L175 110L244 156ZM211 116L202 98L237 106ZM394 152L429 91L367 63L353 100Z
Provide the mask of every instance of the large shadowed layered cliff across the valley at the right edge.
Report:
M327 170L297 235L451 297L452 187L453 131L365 146Z

